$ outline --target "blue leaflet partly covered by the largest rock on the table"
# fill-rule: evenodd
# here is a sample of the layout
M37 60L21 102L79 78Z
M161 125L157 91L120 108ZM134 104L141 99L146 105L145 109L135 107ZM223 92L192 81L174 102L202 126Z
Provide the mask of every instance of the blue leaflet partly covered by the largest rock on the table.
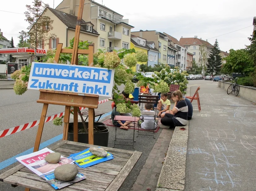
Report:
M86 177L81 173L77 173L76 177L71 181L60 181L54 177L54 173L47 173L42 175L41 178L45 179L48 184L54 187L54 189L61 189L78 181L84 180Z

